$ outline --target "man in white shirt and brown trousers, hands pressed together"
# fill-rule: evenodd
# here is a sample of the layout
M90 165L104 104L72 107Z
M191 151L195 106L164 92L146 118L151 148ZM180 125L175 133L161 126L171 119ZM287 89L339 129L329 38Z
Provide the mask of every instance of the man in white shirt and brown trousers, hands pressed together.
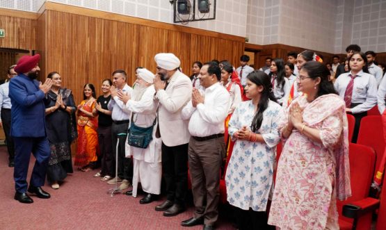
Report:
M195 204L193 217L181 223L184 227L205 224L204 229L213 229L218 217L220 165L225 156L224 120L230 103L220 73L216 63L203 65L200 83L204 95L194 89L191 101L182 109L182 119L190 119L188 162Z

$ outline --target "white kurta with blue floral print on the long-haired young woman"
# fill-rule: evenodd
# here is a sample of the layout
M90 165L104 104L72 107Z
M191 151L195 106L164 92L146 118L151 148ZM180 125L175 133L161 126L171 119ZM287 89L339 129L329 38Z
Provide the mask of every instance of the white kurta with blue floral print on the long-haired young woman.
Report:
M257 131L262 134L265 143L236 140L225 175L227 201L233 206L244 210L252 208L254 211L266 211L268 196L273 190L275 147L280 141L278 121L282 115L282 107L268 101L262 126ZM243 126L250 129L254 116L255 106L252 101L241 102L230 120L230 135L233 136Z

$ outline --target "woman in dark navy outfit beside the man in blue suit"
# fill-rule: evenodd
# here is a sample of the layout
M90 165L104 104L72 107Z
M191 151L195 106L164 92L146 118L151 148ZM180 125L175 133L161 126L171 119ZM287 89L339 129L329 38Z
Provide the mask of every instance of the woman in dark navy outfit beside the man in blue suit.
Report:
M67 173L72 173L71 142L77 138L74 98L71 90L62 88L58 72L47 76L52 79L51 90L45 101L46 127L51 156L47 167L47 181L51 188L58 189Z

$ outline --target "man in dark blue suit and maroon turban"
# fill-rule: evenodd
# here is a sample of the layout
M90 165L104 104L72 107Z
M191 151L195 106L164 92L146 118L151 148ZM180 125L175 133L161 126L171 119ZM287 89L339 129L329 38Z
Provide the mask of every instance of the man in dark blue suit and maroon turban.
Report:
M9 97L13 105L11 110L10 135L15 142L15 199L30 204L33 199L27 195L26 182L31 152L35 156L35 166L31 175L28 192L39 198L51 197L42 190L45 184L50 149L45 128L45 105L43 98L51 88L51 79L44 84L35 80L40 68L40 55L22 56L17 62L17 76L10 80Z

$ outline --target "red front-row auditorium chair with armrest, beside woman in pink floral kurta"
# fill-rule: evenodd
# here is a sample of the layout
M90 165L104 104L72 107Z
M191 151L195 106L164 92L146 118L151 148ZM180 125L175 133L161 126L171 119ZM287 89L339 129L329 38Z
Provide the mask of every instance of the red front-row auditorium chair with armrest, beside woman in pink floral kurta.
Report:
M369 230L373 211L379 206L378 199L368 197L376 154L371 147L350 143L349 161L352 196L343 202L337 201L339 227Z

